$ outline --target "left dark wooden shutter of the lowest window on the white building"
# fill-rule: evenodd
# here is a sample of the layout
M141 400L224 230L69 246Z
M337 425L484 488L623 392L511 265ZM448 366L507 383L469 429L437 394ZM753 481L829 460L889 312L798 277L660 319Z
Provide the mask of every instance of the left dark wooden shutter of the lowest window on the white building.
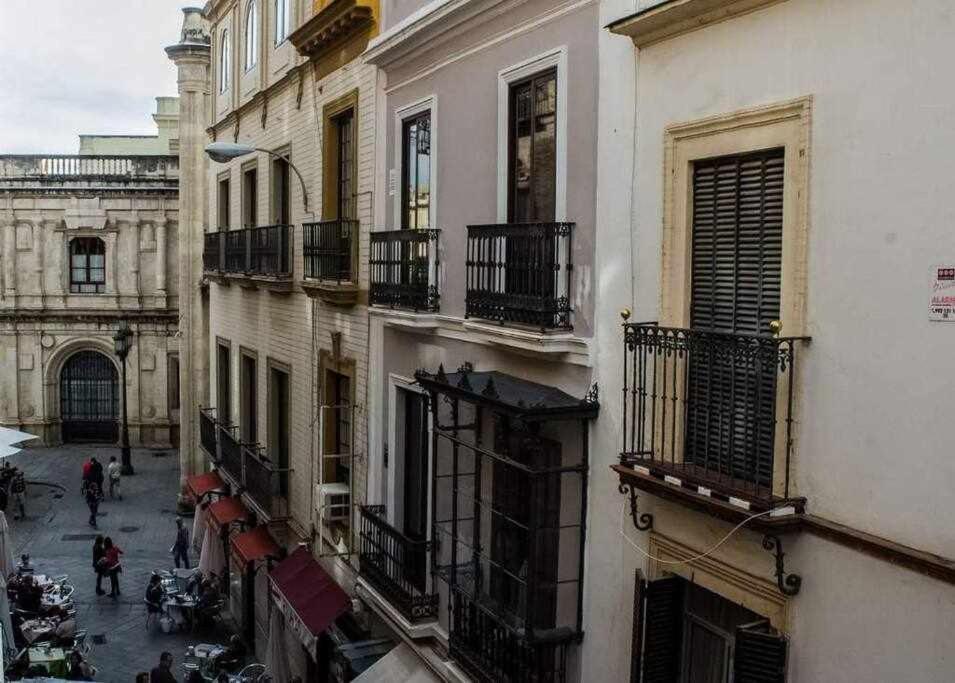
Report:
M683 579L643 581L633 604L631 683L676 683L683 641Z

